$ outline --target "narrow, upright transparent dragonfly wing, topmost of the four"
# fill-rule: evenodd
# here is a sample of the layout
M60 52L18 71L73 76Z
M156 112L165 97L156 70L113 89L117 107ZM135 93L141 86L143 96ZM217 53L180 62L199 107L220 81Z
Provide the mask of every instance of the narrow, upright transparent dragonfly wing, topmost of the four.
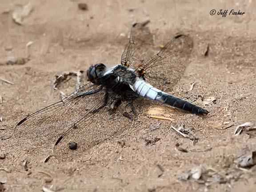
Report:
M137 68L148 56L152 56L153 36L146 25L149 21L132 25L129 43L126 45L121 58L121 64Z

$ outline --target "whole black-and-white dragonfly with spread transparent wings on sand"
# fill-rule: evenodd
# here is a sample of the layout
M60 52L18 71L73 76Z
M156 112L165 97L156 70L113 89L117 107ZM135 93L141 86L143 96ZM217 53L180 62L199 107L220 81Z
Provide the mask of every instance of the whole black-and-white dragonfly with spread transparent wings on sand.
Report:
M54 155L65 158L135 126L146 100L207 115L204 108L164 92L184 74L192 54L192 38L176 35L150 56L153 36L146 24L132 25L120 64L112 68L102 63L92 65L87 84L20 120L14 136L20 140L43 139L54 144Z

